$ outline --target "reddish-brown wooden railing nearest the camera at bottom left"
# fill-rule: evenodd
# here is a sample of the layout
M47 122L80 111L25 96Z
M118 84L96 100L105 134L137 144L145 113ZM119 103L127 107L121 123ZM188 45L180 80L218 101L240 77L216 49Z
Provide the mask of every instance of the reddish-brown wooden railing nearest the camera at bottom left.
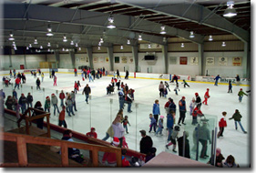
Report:
M46 146L58 146L61 148L61 165L55 165L56 167L69 167L68 165L68 148L79 148L92 151L92 163L93 167L98 166L97 153L98 151L115 153L117 156L117 167L122 166L122 154L121 148L113 146L98 146L92 144L84 144L79 142L70 142L66 140L52 139L47 137L31 137L27 135L20 135L14 133L0 132L0 140L16 142L18 166L19 167L33 167L33 164L29 164L27 161L27 149L26 144L37 144ZM16 163L4 163L2 166L15 166ZM46 164L34 164L38 167L46 167Z

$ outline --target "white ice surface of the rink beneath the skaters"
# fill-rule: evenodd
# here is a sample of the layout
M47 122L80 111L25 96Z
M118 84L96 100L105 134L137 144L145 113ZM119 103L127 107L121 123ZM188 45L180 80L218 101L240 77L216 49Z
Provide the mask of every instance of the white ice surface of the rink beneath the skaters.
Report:
M115 88L115 93L108 96L106 87L110 84L111 76L103 76L100 79L96 79L94 82L88 82L88 79L82 81L80 74L78 76L74 76L73 73L56 73L57 76L57 86L53 86L53 79L49 78L48 73L45 74L44 82L41 84L41 87L45 88L45 91L36 90L36 78L31 76L30 74L26 74L26 84L22 86L21 89L17 90L18 97L20 97L21 92L27 96L28 92L34 97L33 105L35 105L37 100L42 102L42 105L45 104L45 98L47 96L51 96L52 93L56 94L57 97L60 90L64 90L66 92L71 92L74 89L74 82L79 80L81 83L81 88L76 95L77 102L77 112L75 112L75 116L68 117L66 115L67 127L73 130L76 130L81 133L87 133L90 130L90 127L95 127L98 138L103 138L106 136L106 131L108 127L111 126L112 121L116 117L118 113L118 90L117 86ZM41 80L41 76L40 80ZM148 115L152 113L152 107L155 99L159 99L160 112L161 115L166 116L164 105L168 101L168 97L172 97L174 99L175 104L178 106L178 102L181 97L186 97L187 104L187 115L186 115L186 123L187 125L181 126L181 132L179 136L182 136L182 131L185 129L189 131L189 145L192 148L192 126L191 124L191 116L189 115L189 103L192 97L195 97L195 93L198 92L202 101L203 96L206 92L207 88L210 88L210 99L208 100L208 105L202 105L201 111L205 116L211 118L210 127L213 126L218 127L219 131L219 120L222 117L221 112L227 112L227 124L228 126L225 128L223 136L217 139L217 148L221 149L221 153L224 158L227 158L229 155L233 155L236 159L236 162L240 164L241 167L249 167L251 162L250 153L251 153L251 131L250 131L250 103L251 96L243 97L242 102L240 103L238 100L238 92L240 88L243 88L244 92L249 90L249 86L236 86L233 84L232 90L233 93L228 92L227 84L220 84L219 86L214 86L213 83L203 83L203 82L189 82L190 87L184 88L181 85L181 81L179 81L179 95L176 96L173 91L175 85L169 84L170 92L167 98L159 97L159 82L160 79L142 79L142 78L129 78L128 80L124 79L124 76L121 76L121 81L124 84L128 84L129 88L135 89L134 97L135 100L132 103L131 110L132 113L128 113L128 106L124 108L124 116L128 115L128 120L130 123L130 127L128 127L128 134L125 134L127 139L128 148L135 149L139 151L139 141L140 141L140 133L139 130L145 129L147 131L147 135L152 137L153 146L157 148L157 154L161 151L172 152L172 147L169 147L169 150L165 148L166 140L167 140L167 131L163 130L163 136L155 136L153 132L148 133L150 119ZM12 81L14 79L12 78ZM84 86L88 84L91 87L91 99L89 100L89 104L85 102L85 96L82 95L82 90ZM33 87L32 87L33 86ZM6 97L11 93L11 86L3 87L5 91ZM33 89L32 89L33 88ZM111 99L110 99L111 98ZM58 105L60 105L60 100L58 100ZM239 109L241 112L241 124L244 129L248 132L248 134L243 134L241 131L241 127L235 129L234 121L229 120L229 117L235 112L235 109ZM58 124L58 114L56 116L53 115L53 107L51 107L51 118L50 122L52 124ZM178 123L179 119L179 110L177 110L176 115L176 123ZM214 125L212 124L214 123ZM166 117L164 118L164 127L166 127ZM210 128L210 129L211 129ZM108 138L110 142L110 138ZM201 148L201 146L200 146ZM178 150L178 148L177 148ZM178 153L177 153L178 154ZM190 152L191 158L195 159L195 153ZM208 155L210 155L210 145L208 147ZM201 159L202 162L209 161L209 158Z

